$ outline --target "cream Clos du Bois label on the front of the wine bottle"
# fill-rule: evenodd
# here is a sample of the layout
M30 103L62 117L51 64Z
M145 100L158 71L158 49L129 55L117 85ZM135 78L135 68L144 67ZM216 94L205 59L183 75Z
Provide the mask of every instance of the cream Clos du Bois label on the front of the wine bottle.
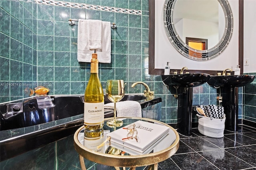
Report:
M84 103L84 124L97 125L104 121L104 102Z

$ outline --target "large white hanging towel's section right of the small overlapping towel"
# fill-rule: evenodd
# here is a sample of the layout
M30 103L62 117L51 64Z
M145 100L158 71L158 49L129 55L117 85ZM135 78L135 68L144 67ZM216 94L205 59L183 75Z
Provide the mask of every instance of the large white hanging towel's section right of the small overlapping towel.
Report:
M101 63L111 62L111 26L110 22L102 21L102 48L96 49Z

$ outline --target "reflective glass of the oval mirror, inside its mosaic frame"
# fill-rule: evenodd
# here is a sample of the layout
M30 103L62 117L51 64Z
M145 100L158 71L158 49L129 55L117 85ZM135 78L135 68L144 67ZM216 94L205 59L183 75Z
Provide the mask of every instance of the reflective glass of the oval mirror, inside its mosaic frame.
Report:
M225 17L218 0L177 0L174 29L189 47L207 50L218 44L225 29Z

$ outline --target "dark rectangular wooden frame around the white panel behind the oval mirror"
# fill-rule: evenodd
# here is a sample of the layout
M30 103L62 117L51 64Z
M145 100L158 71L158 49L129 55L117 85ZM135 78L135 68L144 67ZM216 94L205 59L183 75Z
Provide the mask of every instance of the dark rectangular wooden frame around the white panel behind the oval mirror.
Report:
M243 37L244 37L244 0L239 0L239 65L241 68L241 73L243 73ZM171 69L171 74L174 70ZM222 72L222 70L190 70L190 73L206 73L210 75L217 75L217 72ZM155 68L155 0L149 0L149 67L148 73L151 75L162 75L164 74L164 69ZM234 74L234 73L233 73Z

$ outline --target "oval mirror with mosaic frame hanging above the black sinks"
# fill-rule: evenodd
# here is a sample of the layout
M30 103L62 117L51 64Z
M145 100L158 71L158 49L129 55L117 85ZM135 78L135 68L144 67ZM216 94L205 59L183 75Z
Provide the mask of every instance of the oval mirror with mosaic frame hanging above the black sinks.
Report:
M166 0L164 28L180 54L206 61L228 45L233 16L227 0Z

